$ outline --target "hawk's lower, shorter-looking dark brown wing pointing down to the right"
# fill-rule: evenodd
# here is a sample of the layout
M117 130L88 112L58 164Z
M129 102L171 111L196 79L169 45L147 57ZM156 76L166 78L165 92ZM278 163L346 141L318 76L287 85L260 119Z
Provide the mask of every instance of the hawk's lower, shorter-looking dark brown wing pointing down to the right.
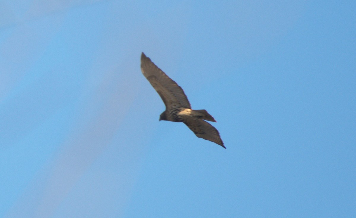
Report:
M210 125L210 123L194 117L186 117L183 123L199 138L215 142L226 149L223 140L220 138L219 131L215 129L214 126Z

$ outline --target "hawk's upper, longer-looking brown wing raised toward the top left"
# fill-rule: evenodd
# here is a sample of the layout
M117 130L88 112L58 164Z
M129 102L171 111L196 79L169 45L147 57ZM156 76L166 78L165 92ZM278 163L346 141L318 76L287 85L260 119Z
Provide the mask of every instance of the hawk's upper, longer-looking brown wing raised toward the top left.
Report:
M150 58L146 57L143 52L141 55L141 71L161 96L168 110L178 107L191 109L183 89L159 69Z

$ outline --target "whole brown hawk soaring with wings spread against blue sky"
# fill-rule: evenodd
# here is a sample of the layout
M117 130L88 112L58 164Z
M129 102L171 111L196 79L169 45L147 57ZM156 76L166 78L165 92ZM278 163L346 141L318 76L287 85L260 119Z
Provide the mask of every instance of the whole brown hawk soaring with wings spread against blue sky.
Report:
M215 142L226 149L219 131L204 121L216 122L215 119L206 110L192 110L183 89L143 52L141 55L141 71L166 105L166 110L159 116L160 121L183 122L199 138Z

